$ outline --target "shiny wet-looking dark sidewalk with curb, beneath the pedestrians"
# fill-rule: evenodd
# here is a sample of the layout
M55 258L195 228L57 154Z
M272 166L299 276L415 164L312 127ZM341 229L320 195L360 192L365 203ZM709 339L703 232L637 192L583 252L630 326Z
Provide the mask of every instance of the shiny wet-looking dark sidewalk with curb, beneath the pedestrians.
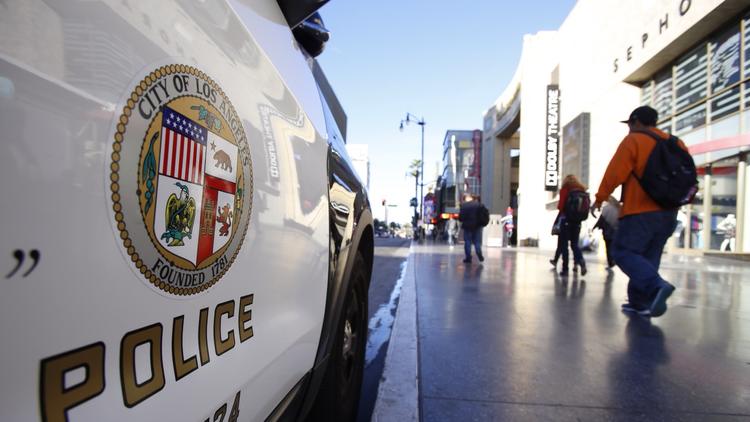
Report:
M648 320L592 256L565 280L538 249L462 254L412 246L373 420L750 419L747 263L665 256L677 290Z

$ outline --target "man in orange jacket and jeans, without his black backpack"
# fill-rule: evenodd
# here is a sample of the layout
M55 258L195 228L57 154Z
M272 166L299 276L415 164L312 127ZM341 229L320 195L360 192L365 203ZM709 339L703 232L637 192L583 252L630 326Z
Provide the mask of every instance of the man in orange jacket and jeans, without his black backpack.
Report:
M658 317L667 311L667 299L675 287L659 275L664 245L677 224L677 210L664 209L643 190L637 177L643 175L646 161L656 145L650 131L666 140L669 135L656 129L658 113L651 107L638 107L627 123L630 133L620 142L602 177L593 208L601 208L612 191L622 185L622 209L615 235L613 258L630 277L625 312ZM687 149L679 141L683 149Z

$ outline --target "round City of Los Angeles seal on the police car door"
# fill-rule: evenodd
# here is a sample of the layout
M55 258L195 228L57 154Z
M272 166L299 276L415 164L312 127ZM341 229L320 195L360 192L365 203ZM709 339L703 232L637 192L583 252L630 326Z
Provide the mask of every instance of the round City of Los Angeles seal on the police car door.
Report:
M216 284L253 197L247 137L221 87L191 66L154 70L123 107L111 157L116 231L143 280L178 296Z

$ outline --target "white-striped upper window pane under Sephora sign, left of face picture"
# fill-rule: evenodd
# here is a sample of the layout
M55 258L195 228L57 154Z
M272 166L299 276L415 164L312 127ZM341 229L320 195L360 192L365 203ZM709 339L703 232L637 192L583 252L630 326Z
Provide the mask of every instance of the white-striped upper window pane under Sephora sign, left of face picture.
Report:
M677 111L706 98L707 62L706 44L701 44L677 61L674 69Z

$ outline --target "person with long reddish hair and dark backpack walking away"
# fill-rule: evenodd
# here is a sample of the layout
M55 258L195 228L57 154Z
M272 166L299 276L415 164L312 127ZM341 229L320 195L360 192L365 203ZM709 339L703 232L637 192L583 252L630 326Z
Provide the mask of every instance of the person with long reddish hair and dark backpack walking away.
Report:
M557 209L561 214L560 234L558 235L558 248L562 243L562 269L561 276L568 275L568 244L573 251L573 268L581 267L581 275L586 275L586 261L578 246L578 238L581 234L581 222L588 217L590 208L589 194L586 187L572 174L565 176L560 188L560 199Z

